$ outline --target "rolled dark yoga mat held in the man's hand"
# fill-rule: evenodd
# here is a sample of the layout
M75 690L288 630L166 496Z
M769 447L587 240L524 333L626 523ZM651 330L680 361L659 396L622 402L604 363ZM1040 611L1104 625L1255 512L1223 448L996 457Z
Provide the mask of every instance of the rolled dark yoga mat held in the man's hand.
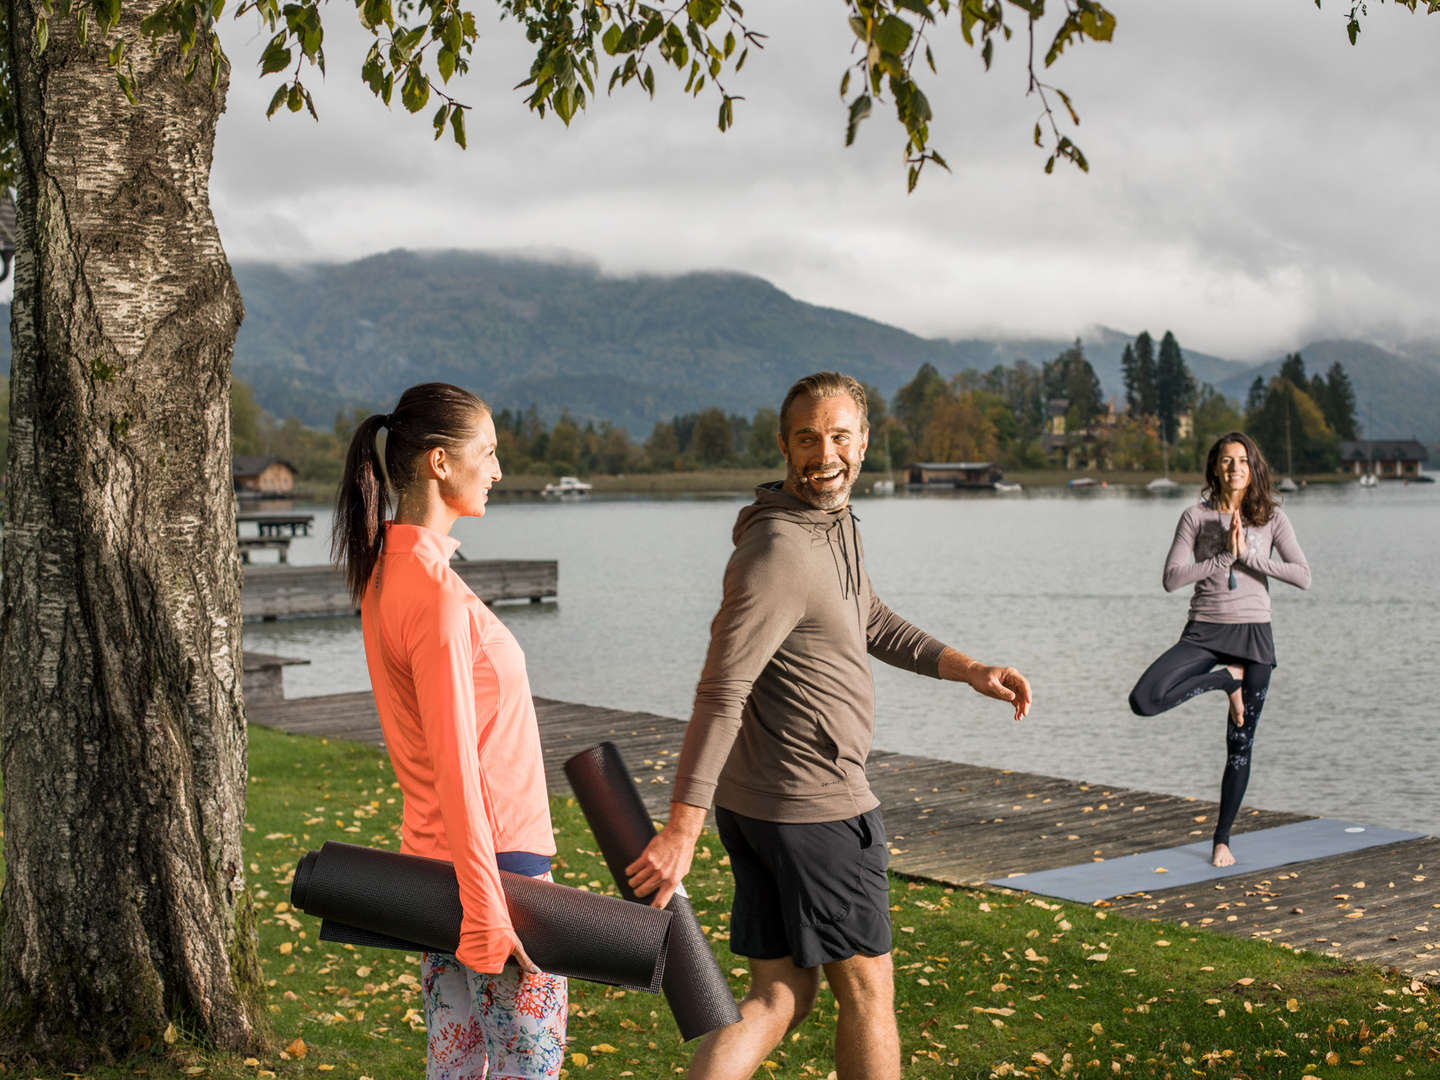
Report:
M621 752L615 743L582 750L564 763L564 775L585 811L585 819L590 822L615 884L621 887L621 896L642 903L629 887L625 867L639 858L655 835L655 827ZM665 910L675 917L670 924L664 991L680 1034L688 1041L739 1022L740 1007L734 1004L690 900L677 893Z

